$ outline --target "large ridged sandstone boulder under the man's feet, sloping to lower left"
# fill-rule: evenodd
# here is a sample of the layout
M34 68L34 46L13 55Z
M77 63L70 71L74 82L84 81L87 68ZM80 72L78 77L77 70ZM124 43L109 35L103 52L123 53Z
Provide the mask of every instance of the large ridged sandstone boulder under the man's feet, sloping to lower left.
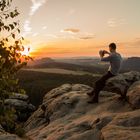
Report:
M107 91L102 91L99 104L88 104L86 93L91 90L87 85L65 84L48 92L43 107L39 106L25 123L26 135L34 140L103 139L102 130L131 108Z

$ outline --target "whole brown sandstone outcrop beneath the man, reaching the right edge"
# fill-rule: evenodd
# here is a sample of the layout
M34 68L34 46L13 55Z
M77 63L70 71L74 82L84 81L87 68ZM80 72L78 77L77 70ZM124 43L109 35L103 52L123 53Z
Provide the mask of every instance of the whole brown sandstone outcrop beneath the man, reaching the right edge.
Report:
M125 73L111 80L115 87L128 86L129 103L137 110L109 91L101 91L98 104L88 104L86 93L92 90L91 87L64 84L45 95L42 105L24 125L26 135L33 140L138 140L139 73Z

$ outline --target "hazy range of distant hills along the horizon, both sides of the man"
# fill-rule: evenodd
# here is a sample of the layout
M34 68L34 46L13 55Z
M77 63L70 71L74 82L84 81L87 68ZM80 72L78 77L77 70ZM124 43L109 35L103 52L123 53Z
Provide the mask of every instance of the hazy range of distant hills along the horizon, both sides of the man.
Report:
M99 58L52 59L47 57L35 60L28 65L28 68L58 68L101 74L108 69L108 63L100 62ZM123 60L121 72L131 70L140 71L140 57L130 57Z

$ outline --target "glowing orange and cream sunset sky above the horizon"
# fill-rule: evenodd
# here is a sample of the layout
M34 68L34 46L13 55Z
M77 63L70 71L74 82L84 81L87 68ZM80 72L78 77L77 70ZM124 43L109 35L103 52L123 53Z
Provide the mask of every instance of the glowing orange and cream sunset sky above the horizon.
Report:
M116 42L123 56L140 55L140 0L13 0L31 55L98 56Z

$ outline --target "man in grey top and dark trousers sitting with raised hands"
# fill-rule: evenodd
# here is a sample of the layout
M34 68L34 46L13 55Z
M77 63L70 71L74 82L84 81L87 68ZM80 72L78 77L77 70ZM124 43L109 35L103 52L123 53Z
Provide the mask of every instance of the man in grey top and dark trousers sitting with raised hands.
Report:
M110 66L108 72L95 82L94 90L90 93L87 93L92 97L88 103L98 103L99 92L104 88L106 81L119 73L122 57L116 52L115 43L109 44L109 51L110 52L103 50L99 52L101 61L110 62ZM105 54L108 54L109 56L104 57Z

